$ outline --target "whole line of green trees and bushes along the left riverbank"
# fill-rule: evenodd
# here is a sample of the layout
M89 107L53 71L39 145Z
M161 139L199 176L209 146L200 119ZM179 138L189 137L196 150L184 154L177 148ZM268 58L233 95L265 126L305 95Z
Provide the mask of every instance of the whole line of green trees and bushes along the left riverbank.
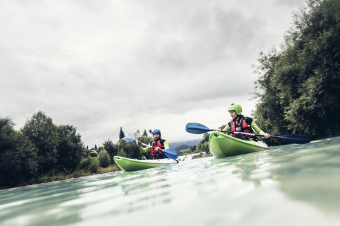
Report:
M122 128L120 136L124 136ZM145 130L131 136L143 143L151 141ZM118 170L113 163L114 155L142 156L135 143L122 140L104 141L99 154L86 154L83 150L84 143L75 127L55 125L44 112L33 114L19 131L14 129L11 119L0 118L0 187L111 172Z

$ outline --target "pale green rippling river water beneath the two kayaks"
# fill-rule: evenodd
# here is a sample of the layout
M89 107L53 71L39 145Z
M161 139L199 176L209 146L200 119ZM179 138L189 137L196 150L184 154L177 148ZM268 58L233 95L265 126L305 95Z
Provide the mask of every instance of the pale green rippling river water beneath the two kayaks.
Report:
M340 225L340 137L4 189L0 225Z

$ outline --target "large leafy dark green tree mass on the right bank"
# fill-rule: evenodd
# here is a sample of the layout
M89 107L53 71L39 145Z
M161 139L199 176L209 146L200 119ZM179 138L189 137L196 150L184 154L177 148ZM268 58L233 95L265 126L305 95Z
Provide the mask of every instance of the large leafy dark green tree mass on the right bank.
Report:
M340 134L340 1L309 0L294 14L282 50L261 53L256 72L261 129L272 134Z

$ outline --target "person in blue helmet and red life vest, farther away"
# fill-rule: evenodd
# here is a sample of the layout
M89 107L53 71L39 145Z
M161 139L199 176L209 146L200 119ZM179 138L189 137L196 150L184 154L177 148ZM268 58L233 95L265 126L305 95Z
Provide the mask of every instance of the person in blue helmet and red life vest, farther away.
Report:
M150 142L151 147L142 147L140 141L135 141L141 152L149 152L151 150L151 156L153 159L167 158L161 149L169 149L168 141L163 140L160 136L160 130L153 130L153 141Z

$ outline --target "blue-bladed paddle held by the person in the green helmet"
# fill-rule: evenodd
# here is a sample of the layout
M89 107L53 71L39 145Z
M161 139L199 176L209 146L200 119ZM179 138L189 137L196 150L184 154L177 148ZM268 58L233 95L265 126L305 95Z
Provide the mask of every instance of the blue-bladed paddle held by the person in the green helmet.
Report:
M204 134L206 132L215 131L215 130L209 129L208 127L200 123L187 123L187 125L185 126L185 130L191 134ZM265 136L261 134L250 134L247 132L232 132L232 131L221 131L221 132L228 132L231 134L245 134L249 136ZM271 135L270 137L280 138L289 143L310 143L311 141L310 136L305 136L305 135L283 135L283 136L272 136Z

